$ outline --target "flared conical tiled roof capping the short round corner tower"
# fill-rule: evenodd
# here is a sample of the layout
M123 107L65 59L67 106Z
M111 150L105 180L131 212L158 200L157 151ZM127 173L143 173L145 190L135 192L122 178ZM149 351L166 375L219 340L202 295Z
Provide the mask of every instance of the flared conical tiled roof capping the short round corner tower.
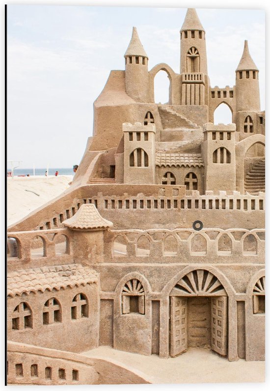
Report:
M82 204L74 216L64 220L63 224L73 229L93 231L112 226L112 222L103 218L94 204Z

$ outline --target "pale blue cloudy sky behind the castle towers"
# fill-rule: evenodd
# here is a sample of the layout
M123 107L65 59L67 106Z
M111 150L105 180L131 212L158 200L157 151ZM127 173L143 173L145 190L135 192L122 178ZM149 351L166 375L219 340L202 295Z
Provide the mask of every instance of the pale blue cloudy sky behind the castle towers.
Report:
M155 4L160 7L152 7L150 0L143 4L150 6L8 5L8 160L22 160L22 168L80 163L92 135L93 102L109 71L124 69L133 26L149 57L149 70L166 62L179 73L179 30L187 9L164 8L159 1ZM247 39L260 69L264 110L264 10L197 8L197 13L206 30L211 86L235 84ZM164 72L157 75L155 88L156 101L166 102Z

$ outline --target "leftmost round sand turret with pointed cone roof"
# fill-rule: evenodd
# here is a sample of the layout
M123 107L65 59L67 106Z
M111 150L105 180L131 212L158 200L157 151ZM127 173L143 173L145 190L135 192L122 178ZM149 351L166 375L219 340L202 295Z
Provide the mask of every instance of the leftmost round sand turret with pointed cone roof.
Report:
M136 102L149 101L148 56L134 27L125 57L125 85L127 94Z

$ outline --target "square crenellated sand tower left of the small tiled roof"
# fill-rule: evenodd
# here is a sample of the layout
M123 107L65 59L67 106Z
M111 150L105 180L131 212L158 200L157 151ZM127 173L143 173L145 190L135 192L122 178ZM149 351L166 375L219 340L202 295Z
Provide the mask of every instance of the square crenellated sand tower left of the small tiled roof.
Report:
M123 123L124 183L155 183L155 134L153 123Z

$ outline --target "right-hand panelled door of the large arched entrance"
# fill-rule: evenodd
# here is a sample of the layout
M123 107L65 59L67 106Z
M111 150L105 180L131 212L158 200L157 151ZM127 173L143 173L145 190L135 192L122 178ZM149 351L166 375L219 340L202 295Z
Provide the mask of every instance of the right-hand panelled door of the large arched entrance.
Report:
M211 299L211 348L227 356L227 296Z

